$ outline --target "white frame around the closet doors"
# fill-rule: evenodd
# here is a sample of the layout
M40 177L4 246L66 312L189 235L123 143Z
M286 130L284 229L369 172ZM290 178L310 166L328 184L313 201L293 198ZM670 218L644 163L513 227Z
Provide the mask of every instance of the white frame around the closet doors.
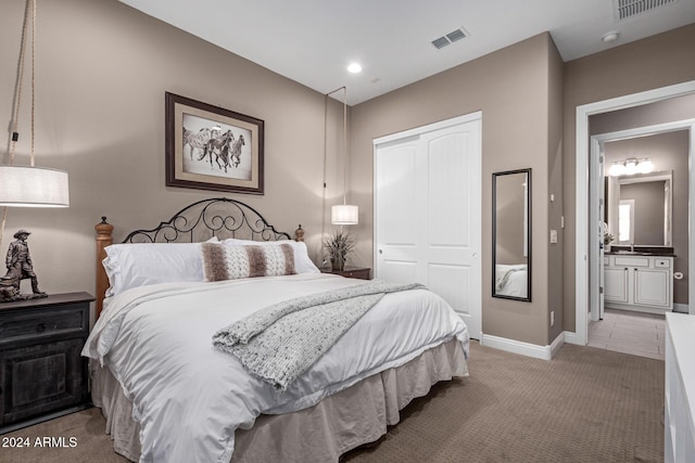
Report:
M477 164L478 164L478 169L477 172L471 172L473 175L478 176L479 179L479 183L480 183L480 190L479 190L479 217L478 217L478 221L480 222L480 227L478 228L478 235L475 237L479 249L477 253L475 253L473 255L473 260L477 262L477 267L476 270L478 272L478 279L480 282L482 282L482 258L481 258L481 254L482 254L482 111L477 111L475 113L469 113L463 116L457 116L457 117L453 117L451 119L446 119L446 120L440 120L438 123L433 123L433 124L428 124L421 127L416 127L414 129L408 129L408 130L404 130L401 132L396 132L396 133L391 133L388 136L383 136L383 137L379 137L372 140L372 147L374 147L374 152L372 152L372 172L374 172L374 197L372 197L372 223L374 223L374 230L372 230L372 235L374 235L374 240L372 240L372 256L374 256L374 262L371 268L374 269L374 276L375 278L379 278L379 266L378 266L378 232L377 232L377 204L378 204L378 195L379 195L379 190L378 190L378 185L377 185L377 180L378 180L378 176L377 176L377 152L378 152L378 147L380 145L384 145L387 143L393 143L393 142L397 142L400 140L404 140L407 138L413 138L413 137L419 137L424 133L428 133L431 131L435 131L435 130L441 130L441 129L445 129L448 127L453 127L453 126L459 126L459 125L464 125L464 124L468 124L468 123L473 123L473 121L479 121L480 125L480 132L479 132L479 150L478 150L478 159L477 159ZM475 301L475 307L472 308L472 310L476 311L476 317L478 318L478 323L480 324L480 331L479 333L470 333L471 337L473 338L482 338L482 286L480 292L476 295L476 301ZM469 330L471 330L471 327L469 327Z

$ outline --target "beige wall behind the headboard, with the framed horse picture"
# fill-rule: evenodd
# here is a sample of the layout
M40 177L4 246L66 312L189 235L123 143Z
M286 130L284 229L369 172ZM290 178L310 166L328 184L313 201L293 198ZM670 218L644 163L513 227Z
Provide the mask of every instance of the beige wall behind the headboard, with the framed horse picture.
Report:
M3 3L3 128L10 124L23 15L24 2ZM190 202L223 195L165 187L165 91L265 120L265 195L225 195L248 202L279 230L292 233L302 223L318 258L321 94L115 0L39 2L37 21L37 165L70 172L71 207L9 209L1 252L17 229L29 229L45 291L94 293L93 226L102 215L121 240L134 228L156 226ZM28 164L28 95L25 87L15 164ZM331 110L331 116L342 114L336 111L340 105ZM341 136L330 129L333 138ZM7 145L3 129L3 153ZM329 204L342 194L338 168L330 158Z

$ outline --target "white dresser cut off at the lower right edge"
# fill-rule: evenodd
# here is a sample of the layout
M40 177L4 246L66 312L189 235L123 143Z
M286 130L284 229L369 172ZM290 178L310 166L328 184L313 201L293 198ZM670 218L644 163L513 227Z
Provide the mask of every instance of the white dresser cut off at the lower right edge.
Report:
M664 461L695 461L695 316L666 314Z

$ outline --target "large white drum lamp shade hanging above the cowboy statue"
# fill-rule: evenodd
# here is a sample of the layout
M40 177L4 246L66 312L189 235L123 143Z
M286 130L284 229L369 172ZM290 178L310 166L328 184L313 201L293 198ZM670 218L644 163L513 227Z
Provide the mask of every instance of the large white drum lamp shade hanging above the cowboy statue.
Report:
M67 207L67 172L46 167L0 165L0 206Z

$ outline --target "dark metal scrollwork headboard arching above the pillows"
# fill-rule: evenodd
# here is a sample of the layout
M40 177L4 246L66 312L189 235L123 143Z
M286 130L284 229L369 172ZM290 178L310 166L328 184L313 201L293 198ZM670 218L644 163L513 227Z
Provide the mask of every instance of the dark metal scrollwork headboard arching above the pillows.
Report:
M253 207L227 197L190 204L151 230L135 230L124 243L199 243L213 236L252 241L290 240Z

